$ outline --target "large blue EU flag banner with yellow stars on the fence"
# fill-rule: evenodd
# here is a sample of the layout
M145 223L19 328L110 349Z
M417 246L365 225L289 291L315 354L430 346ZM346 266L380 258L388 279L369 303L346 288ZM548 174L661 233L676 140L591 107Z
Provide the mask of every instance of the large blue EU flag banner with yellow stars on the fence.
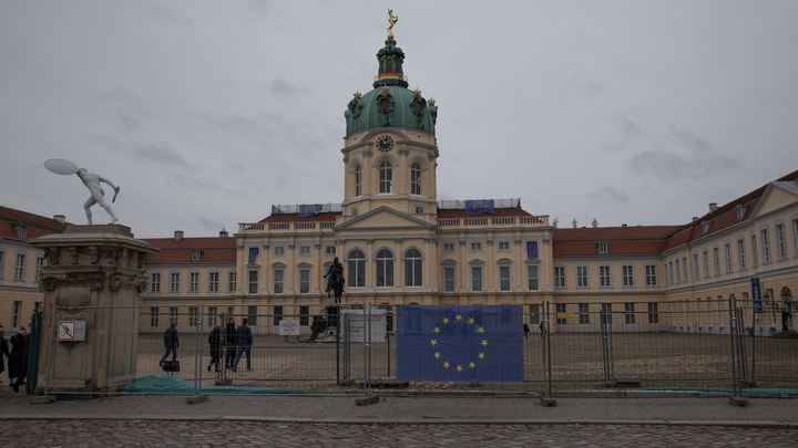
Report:
M397 305L397 379L523 382L522 305Z

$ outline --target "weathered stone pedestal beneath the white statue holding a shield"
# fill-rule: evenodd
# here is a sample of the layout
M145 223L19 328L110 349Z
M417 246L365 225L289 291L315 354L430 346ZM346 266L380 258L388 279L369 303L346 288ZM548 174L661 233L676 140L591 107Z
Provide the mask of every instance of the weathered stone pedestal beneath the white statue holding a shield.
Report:
M39 281L44 292L39 386L45 384L49 358L48 393L116 392L136 377L144 261L158 249L119 225L68 226L31 244L47 258ZM58 341L59 321L85 321L85 341Z

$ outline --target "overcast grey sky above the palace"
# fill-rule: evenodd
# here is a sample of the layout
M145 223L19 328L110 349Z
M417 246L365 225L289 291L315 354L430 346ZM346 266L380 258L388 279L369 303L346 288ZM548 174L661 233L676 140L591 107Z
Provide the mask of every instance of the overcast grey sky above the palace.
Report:
M798 169L794 0L0 1L0 205L85 223L49 158L120 185L141 238L340 202L388 8L439 199L675 225Z

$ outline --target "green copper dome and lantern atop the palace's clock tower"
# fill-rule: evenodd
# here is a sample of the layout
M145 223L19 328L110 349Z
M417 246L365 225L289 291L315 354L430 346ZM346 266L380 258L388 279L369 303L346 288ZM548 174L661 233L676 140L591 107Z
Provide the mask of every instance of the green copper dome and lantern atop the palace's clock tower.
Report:
M402 71L405 53L396 46L393 39L386 41L386 46L377 53L379 71L374 82L374 90L355 97L344 113L347 121L347 133L350 135L365 129L381 127L407 127L434 134L438 107L434 100L429 103L421 92L408 90L408 80Z

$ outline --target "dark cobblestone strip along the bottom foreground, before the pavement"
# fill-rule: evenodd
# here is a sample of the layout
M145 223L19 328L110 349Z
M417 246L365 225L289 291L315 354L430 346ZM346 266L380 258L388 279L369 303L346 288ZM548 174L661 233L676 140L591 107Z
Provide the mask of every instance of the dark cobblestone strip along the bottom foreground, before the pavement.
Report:
M319 425L3 420L2 447L795 447L798 430L667 425Z

